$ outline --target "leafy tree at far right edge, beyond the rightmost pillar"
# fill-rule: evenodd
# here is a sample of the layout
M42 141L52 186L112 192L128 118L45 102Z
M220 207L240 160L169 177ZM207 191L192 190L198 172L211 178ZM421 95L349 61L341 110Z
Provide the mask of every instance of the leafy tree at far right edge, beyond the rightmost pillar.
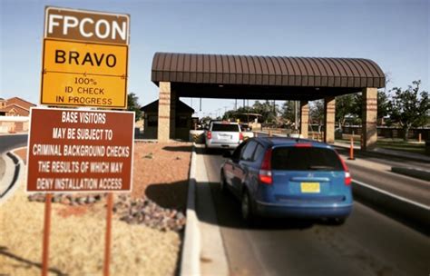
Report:
M390 119L400 124L404 130L404 140L407 141L407 133L412 126L424 126L428 119L430 104L428 92L419 92L421 81L414 81L406 90L394 87L394 92L388 104Z

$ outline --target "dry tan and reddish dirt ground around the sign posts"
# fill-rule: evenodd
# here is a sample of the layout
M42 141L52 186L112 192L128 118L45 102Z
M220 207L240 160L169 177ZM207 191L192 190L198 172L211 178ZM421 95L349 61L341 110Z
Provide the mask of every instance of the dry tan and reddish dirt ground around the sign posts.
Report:
M24 150L17 154L24 160ZM146 196L161 207L184 211L190 160L191 143L135 143L132 197ZM41 273L44 203L29 202L25 184L24 176L0 208L0 275ZM104 203L53 203L50 275L102 274ZM175 274L181 236L114 217L111 274Z

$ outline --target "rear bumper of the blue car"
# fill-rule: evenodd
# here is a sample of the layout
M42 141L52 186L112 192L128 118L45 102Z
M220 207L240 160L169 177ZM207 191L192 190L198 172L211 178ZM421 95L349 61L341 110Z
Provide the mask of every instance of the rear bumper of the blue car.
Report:
M352 212L352 204L332 206L285 205L270 202L255 202L258 215L271 218L346 218Z

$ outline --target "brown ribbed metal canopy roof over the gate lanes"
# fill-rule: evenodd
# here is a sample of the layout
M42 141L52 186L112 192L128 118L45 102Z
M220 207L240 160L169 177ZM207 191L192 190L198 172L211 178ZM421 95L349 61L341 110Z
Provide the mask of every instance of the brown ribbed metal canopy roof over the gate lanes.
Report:
M312 101L385 86L381 68L362 58L156 53L151 71L180 97Z

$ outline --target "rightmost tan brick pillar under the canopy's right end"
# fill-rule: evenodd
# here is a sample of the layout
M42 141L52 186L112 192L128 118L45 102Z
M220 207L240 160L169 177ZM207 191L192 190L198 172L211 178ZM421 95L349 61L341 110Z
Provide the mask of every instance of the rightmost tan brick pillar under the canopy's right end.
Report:
M377 89L363 89L363 139L361 149L364 151L372 150L376 147L377 140Z

